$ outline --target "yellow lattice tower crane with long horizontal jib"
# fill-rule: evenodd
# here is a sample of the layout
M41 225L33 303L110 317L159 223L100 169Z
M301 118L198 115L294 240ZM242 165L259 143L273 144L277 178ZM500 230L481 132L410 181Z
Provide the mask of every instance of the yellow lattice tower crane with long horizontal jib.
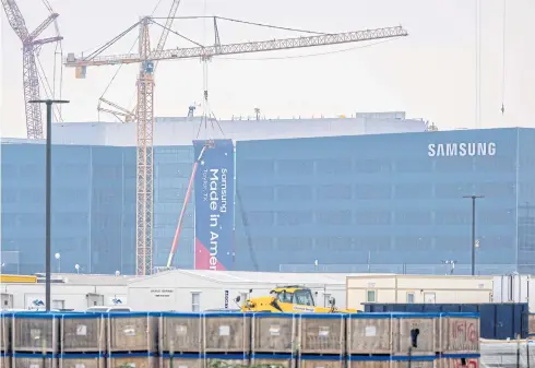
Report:
M214 25L215 25L214 17ZM213 46L189 48L173 48L151 50L148 25L157 24L152 17L145 16L121 35L104 45L87 57L75 57L68 54L66 67L76 68L78 75L85 75L87 67L116 66L140 63L138 74L138 106L136 106L136 236L135 236L135 268L138 275L152 273L153 266L153 132L154 132L154 64L160 60L179 60L200 58L206 60L216 56L250 54L274 50L287 50L314 46L340 45L366 40L407 36L402 26L366 29L336 34L320 34L305 37L248 41L222 45L218 33ZM139 51L117 56L100 56L100 54L124 34L139 26Z

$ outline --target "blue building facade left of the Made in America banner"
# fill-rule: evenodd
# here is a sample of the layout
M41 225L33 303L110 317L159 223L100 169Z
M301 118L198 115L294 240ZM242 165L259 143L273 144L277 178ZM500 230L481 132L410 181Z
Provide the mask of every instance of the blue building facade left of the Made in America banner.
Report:
M191 174L191 146L155 149L154 263L165 265ZM45 145L1 146L2 273L45 269ZM135 149L54 145L52 272L135 272ZM193 205L175 265L193 263ZM183 245L183 246L182 246Z

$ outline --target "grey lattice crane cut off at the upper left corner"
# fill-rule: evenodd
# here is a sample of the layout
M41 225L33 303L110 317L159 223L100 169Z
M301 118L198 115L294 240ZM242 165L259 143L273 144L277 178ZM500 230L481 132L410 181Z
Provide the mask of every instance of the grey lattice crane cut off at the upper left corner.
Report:
M8 22L22 41L23 52L23 87L26 110L26 132L31 140L43 139L43 119L39 104L31 104L32 99L40 99L39 75L35 60L37 47L63 39L61 36L37 39L37 37L59 16L51 13L34 32L29 33L24 16L15 0L1 0Z

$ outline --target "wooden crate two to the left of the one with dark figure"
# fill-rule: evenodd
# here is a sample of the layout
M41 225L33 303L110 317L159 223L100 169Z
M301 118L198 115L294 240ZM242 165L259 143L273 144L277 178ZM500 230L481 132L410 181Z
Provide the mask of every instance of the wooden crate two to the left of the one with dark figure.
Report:
M298 324L299 368L343 368L346 320L342 313L304 313Z

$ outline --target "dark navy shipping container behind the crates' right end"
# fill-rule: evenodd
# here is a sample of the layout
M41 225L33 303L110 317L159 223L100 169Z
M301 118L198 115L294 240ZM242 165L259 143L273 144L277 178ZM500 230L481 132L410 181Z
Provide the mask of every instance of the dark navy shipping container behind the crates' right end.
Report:
M527 304L365 304L366 312L472 312L480 316L483 339L527 336Z

